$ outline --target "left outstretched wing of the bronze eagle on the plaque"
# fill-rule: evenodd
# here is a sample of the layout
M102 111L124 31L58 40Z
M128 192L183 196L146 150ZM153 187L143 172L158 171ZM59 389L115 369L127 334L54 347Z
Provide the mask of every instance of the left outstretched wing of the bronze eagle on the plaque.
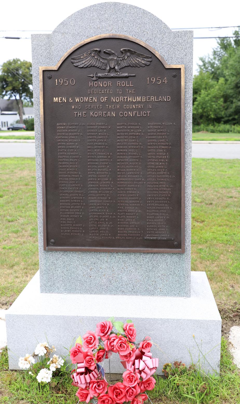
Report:
M100 55L101 49L91 49L79 56L73 56L71 62L76 67L95 66L99 69L106 69L107 59Z

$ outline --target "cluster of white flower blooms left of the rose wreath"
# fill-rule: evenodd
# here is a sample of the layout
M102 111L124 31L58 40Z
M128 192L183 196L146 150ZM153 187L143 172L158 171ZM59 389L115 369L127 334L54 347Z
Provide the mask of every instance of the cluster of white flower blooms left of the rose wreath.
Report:
M46 342L39 343L35 348L33 356L26 353L24 358L19 358L19 368L29 369L31 364L35 364L36 356L46 356L46 358L48 358L50 356L50 353L54 351L56 351L54 346L50 348L50 346ZM32 367L31 370L33 370L33 372L29 371L28 373L29 375L36 377L39 383L49 383L52 378L52 372L54 372L54 370L58 368L61 368L63 364L64 360L61 357L59 358L58 355L53 355L52 358L50 358L50 360L47 362L47 365L50 365L50 369L41 369L38 372L38 375L36 375L34 372L34 367Z

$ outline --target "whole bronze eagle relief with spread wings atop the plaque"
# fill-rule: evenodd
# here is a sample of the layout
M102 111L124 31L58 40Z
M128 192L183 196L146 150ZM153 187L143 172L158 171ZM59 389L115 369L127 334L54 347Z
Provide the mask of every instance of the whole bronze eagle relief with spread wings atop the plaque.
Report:
M105 69L104 74L95 73L94 75L88 75L92 77L92 80L98 80L98 78L128 78L129 76L136 76L136 74L121 73L120 69L123 67L144 67L150 65L152 57L143 55L132 49L122 48L122 55L117 55L111 49L105 49L103 52L109 54L109 57L103 57L100 55L101 49L91 49L88 52L79 56L74 56L71 62L76 67L98 67L99 69Z

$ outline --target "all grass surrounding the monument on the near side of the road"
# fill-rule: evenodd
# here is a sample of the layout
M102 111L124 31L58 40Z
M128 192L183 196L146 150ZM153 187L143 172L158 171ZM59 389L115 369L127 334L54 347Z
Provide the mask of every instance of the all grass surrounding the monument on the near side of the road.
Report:
M206 271L223 318L223 331L240 324L240 160L193 159L192 270ZM7 308L38 270L34 158L0 159L0 304ZM7 370L0 355L0 404L76 403L69 375L40 389L30 375ZM158 378L154 404L239 404L240 376L222 341L221 375L187 370Z

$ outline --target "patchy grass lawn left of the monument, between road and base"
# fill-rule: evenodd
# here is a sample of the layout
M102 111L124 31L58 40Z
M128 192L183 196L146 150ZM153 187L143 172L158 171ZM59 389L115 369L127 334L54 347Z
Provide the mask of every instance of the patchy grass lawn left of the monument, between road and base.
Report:
M38 270L34 158L0 159L0 302L8 307Z

